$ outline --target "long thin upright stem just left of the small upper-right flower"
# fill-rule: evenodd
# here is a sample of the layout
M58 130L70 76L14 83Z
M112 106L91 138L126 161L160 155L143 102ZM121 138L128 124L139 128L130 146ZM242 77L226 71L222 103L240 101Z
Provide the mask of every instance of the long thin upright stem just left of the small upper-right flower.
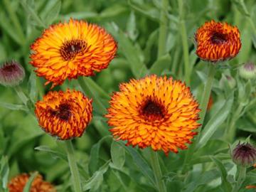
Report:
M184 11L183 11L183 0L178 0L178 12L180 16L180 32L181 32L181 41L183 46L183 58L185 64L185 82L187 85L190 85L190 76L191 70L189 66L189 53L188 53L188 36L186 32L186 26L184 21Z

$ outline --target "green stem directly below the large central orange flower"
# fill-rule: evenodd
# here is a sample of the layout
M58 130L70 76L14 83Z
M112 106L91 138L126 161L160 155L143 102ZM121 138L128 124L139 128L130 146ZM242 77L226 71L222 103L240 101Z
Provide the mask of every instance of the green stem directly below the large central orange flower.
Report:
M151 166L152 166L153 171L154 171L154 176L155 176L155 179L156 179L156 186L157 186L159 192L166 192L166 186L165 186L165 183L162 179L163 175L161 173L161 167L160 167L160 164L159 164L159 159L158 159L158 156L157 156L157 152L153 151L153 150L151 150L150 152L151 152L150 153L150 155L151 155Z

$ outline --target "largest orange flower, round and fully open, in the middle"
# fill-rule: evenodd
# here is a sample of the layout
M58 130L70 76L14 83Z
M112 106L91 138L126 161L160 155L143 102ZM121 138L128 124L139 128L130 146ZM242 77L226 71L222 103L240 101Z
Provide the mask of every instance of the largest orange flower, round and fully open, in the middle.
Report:
M110 132L127 145L178 152L196 134L198 103L189 87L172 78L151 75L122 83L108 109Z

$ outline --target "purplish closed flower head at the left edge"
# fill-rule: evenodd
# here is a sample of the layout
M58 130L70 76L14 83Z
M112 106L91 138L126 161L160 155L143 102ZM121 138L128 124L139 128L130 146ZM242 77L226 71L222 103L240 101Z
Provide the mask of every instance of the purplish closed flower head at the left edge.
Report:
M0 84L14 87L19 85L25 78L24 68L15 60L0 66Z

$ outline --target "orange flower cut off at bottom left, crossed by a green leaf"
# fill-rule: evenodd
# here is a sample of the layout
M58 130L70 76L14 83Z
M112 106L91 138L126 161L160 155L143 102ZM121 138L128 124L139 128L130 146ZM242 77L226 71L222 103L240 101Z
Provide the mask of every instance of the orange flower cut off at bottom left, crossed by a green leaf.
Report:
M26 182L28 182L29 177L30 176L28 174L21 174L12 178L8 184L9 192L23 192L23 188L26 186ZM46 181L43 181L43 177L39 174L36 176L36 178L34 178L30 191L56 192L54 186Z

